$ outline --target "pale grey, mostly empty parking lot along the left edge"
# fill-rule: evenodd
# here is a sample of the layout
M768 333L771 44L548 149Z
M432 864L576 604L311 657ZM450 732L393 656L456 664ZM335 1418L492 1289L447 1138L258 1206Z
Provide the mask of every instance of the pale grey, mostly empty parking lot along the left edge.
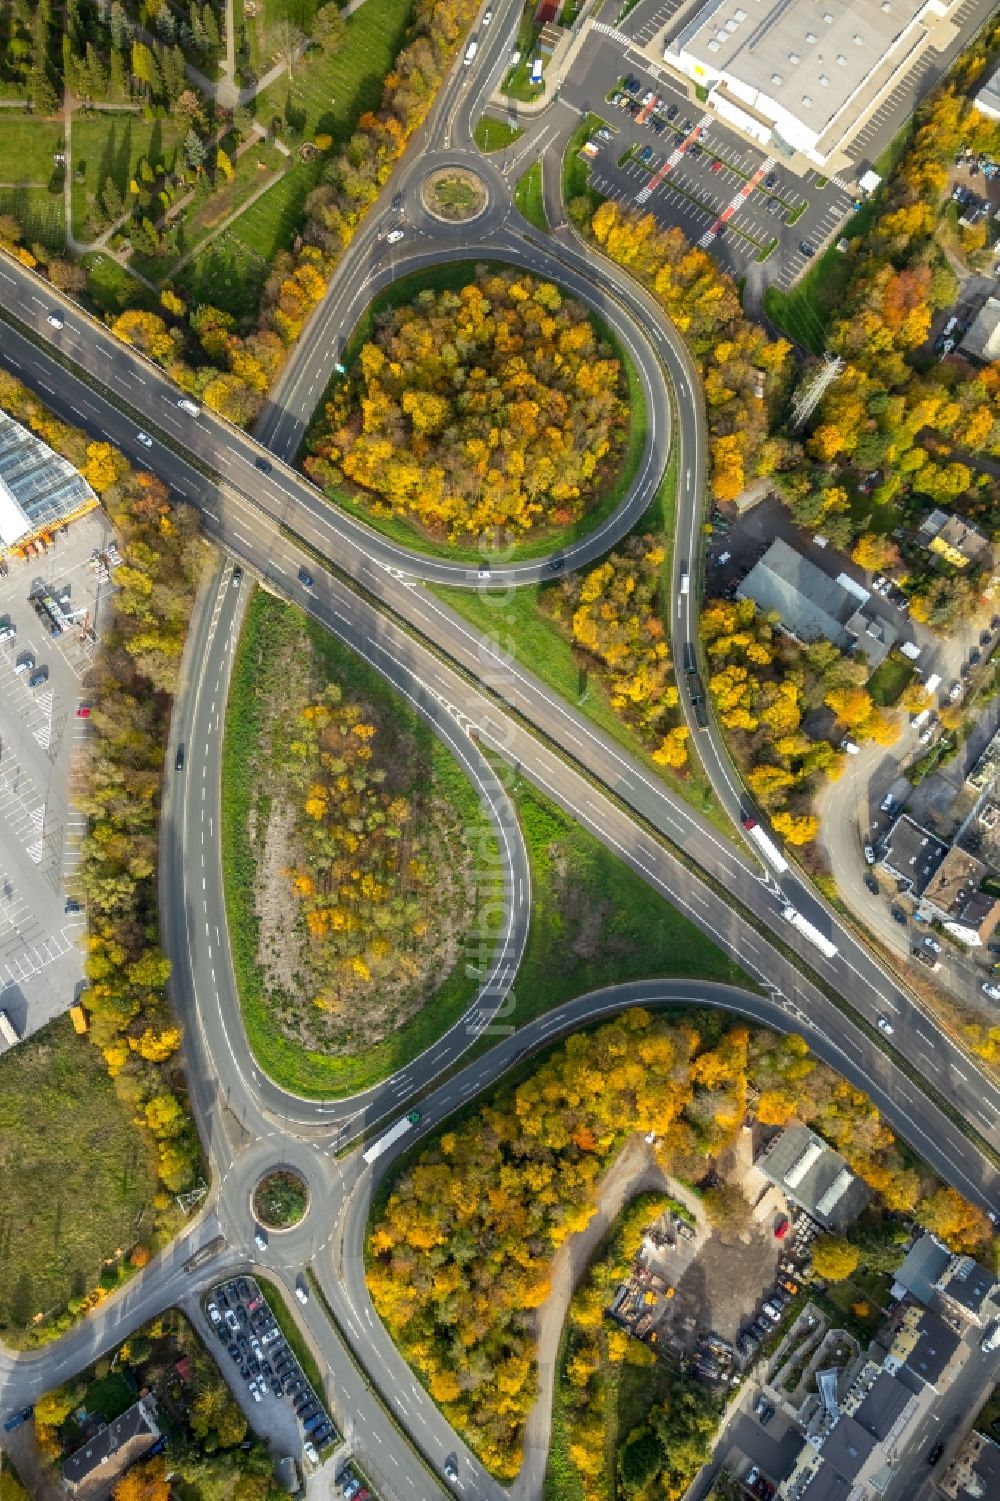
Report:
M69 778L113 587L111 566L98 576L92 554L111 542L96 510L35 557L5 560L0 573L0 1007L21 1036L62 1015L83 980L74 893L83 820Z

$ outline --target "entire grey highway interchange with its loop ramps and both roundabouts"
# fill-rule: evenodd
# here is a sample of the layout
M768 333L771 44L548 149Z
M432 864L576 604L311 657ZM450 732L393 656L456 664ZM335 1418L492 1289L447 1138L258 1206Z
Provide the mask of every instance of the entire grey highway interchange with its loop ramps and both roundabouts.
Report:
M453 1451L459 1456L458 1493L498 1501L506 1492L456 1439L372 1313L363 1279L363 1229L372 1189L392 1154L372 1172L360 1153L348 1148L414 1100L422 1111L419 1133L434 1129L529 1051L628 1004L721 1006L800 1033L818 1057L872 1096L893 1130L949 1183L986 1208L1000 1205L1000 1172L923 1091L922 1081L994 1148L1000 1148L1000 1091L839 926L803 880L791 871L781 881L763 872L754 854L671 794L575 707L554 698L517 660L503 633L505 591L584 567L607 552L647 509L676 446L677 609L671 623L674 657L680 660L683 644L698 641L707 453L697 372L679 335L643 288L581 251L568 233L544 239L527 231L511 210L503 174L479 158L476 170L489 194L479 221L441 227L420 215L414 194L423 170L468 161L471 122L505 66L518 14L514 3L500 8L492 30L480 32L476 66L452 71L422 137L384 191L383 201L402 192L410 225L405 240L389 254L380 236L395 222L396 210L375 206L272 392L257 437L209 413L197 420L183 414L176 387L80 309L66 308L65 327L53 330L45 318L56 294L15 263L0 261L0 303L35 335L29 339L5 326L0 365L39 390L60 416L93 437L108 437L158 473L176 495L198 507L206 534L246 569L243 584L234 588L230 566L222 564L203 593L165 757L162 937L174 965L173 1001L185 1022L192 1105L212 1163L207 1201L177 1241L68 1336L30 1355L0 1351L0 1412L78 1370L167 1303L192 1309L198 1292L224 1271L249 1267L252 1184L266 1166L285 1160L306 1177L312 1208L291 1235L273 1237L257 1261L287 1288L299 1268L312 1267L350 1351L318 1298L305 1309L291 1306L329 1372L333 1411L344 1426L350 1418L359 1451L378 1466L384 1496L446 1495L434 1477L440 1477L444 1454ZM551 276L586 300L629 350L643 386L647 435L635 483L611 518L557 560L517 561L489 551L470 561L417 555L335 509L285 462L294 458L366 302L405 272L474 257ZM77 371L87 372L90 383ZM122 411L123 404L132 411ZM152 449L137 441L138 426L153 435ZM489 570L486 578L480 561ZM312 590L299 582L302 567L314 578ZM688 594L680 590L682 569L692 578ZM505 859L503 923L468 1012L399 1073L344 1100L291 1096L261 1073L246 1043L233 977L219 863L219 767L233 648L252 579L306 608L410 699L476 788ZM480 636L425 582L483 590L497 602L497 630ZM745 799L715 725L706 732L692 728L692 740L722 806L739 826ZM180 743L185 770L176 773ZM500 772L483 752L500 758ZM553 797L679 907L742 965L760 994L652 979L578 997L518 1028L517 967L530 917L527 854L508 797L518 776ZM787 901L835 935L839 953L832 961L784 923ZM803 973L803 962L826 988ZM841 1009L833 995L868 1025ZM892 1015L892 1042L871 1025L878 1013ZM910 1061L916 1078L901 1058ZM225 1250L186 1273L192 1249L216 1234L225 1237ZM377 1391L390 1405L392 1420ZM538 1475L526 1481L526 1495L535 1496L536 1481Z

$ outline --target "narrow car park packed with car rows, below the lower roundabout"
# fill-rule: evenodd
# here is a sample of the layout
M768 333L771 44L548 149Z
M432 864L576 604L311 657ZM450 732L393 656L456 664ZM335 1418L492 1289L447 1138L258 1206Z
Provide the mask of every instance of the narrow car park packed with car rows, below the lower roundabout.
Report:
M341 1441L254 1277L212 1288L204 1312L231 1363L233 1387L269 1439L300 1451L311 1468ZM225 1370L225 1361L221 1361Z

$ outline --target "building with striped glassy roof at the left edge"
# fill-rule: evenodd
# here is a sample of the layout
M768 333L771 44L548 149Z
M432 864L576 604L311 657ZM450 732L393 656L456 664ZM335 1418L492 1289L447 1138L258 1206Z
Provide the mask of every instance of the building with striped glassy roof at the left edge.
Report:
M24 548L96 504L69 459L0 408L0 552Z

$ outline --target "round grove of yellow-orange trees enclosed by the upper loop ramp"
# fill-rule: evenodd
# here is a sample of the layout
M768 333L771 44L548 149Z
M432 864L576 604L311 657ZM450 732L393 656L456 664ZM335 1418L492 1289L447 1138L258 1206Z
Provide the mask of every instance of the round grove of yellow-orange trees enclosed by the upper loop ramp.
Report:
M587 309L527 272L384 312L305 468L431 536L512 539L580 521L628 432L623 371Z

